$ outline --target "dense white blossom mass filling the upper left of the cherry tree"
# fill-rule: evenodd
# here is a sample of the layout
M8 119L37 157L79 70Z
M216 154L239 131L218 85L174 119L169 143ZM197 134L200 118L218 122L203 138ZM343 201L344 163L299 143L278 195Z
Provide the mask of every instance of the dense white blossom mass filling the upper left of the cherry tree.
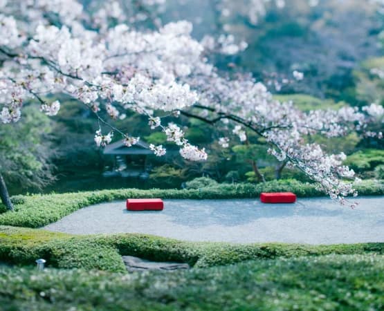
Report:
M140 7L164 2L147 0ZM174 113L199 99L181 78L192 75L195 68L206 73L212 70L203 57L203 46L190 36L192 24L187 21L169 23L154 31L136 30L128 26L120 1L105 3L89 15L75 0L3 1L1 6L3 123L17 122L23 103L31 99L39 102L42 112L56 115L60 102L48 102L42 95L67 93L98 118L105 112L112 120L124 119L125 111L131 110L149 117L149 126L154 129L161 126L161 118L154 111ZM57 15L55 23L53 15ZM118 24L113 25L110 19ZM175 128L161 129L170 133ZM111 133L97 131L96 144L111 142ZM181 148L189 147L186 140L172 133L172 141ZM124 133L122 136L127 146L136 142ZM157 155L165 153L161 148L155 150ZM192 149L188 150L192 158Z

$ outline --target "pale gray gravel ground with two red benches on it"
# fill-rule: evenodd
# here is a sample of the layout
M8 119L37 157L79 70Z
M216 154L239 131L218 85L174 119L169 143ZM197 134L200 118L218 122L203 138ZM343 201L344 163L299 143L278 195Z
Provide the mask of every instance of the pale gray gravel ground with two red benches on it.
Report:
M71 234L137 232L184 241L232 243L384 242L384 196L358 198L356 209L329 198L299 198L295 204L258 199L165 200L163 211L127 211L109 202L75 211L44 227Z

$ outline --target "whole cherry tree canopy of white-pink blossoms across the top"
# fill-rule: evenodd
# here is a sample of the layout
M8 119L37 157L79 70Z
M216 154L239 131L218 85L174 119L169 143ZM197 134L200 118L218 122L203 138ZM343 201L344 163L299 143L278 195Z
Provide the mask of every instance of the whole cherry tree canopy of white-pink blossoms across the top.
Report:
M140 138L113 125L134 111L179 146L183 158L200 161L207 153L190 144L176 124L179 115L196 117L232 131L241 141L246 131L257 133L273 156L307 173L332 198L344 202L343 197L355 194L350 183L341 181L354 176L342 166L345 155L328 156L305 138L349 131L367 135L369 124L381 117L376 106L302 113L291 102L273 100L266 86L249 75L229 77L209 64L208 53L234 54L245 43L223 37L196 41L191 23L161 26L154 19L151 8L163 1L132 3L137 12L126 15L118 1L94 10L75 0L0 1L0 122L17 122L26 101L37 102L42 113L54 116L60 102L49 98L64 93L97 117L98 146L109 144L113 135L120 135L127 147L136 144ZM145 17L152 26L136 26ZM170 116L175 121L163 124ZM166 152L161 145L149 148L156 156Z

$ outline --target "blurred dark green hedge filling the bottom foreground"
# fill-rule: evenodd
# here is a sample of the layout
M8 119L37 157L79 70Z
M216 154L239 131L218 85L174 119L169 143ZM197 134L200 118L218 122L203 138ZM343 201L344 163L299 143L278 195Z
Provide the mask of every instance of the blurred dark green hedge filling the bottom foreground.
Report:
M173 273L0 267L1 310L383 310L384 256L277 258Z

